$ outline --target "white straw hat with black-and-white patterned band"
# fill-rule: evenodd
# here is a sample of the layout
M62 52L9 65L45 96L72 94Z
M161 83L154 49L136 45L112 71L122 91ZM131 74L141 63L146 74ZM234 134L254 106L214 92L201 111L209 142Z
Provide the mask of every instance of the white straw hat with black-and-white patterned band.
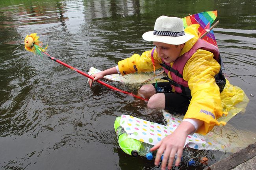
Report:
M194 35L184 32L181 18L160 16L156 19L154 31L148 31L142 35L146 41L163 42L166 44L179 45L187 42Z

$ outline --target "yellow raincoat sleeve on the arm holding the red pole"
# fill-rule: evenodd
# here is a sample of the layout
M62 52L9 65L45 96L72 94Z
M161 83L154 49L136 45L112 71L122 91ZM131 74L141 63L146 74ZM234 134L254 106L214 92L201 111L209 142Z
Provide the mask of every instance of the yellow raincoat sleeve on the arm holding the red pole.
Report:
M150 51L145 51L141 56L134 54L132 57L119 61L118 68L120 73L122 75L126 75L135 72L141 73L153 71L154 68L151 60L151 52L152 49ZM153 57L156 69L161 68L159 65L161 63L161 58L158 57L156 50L154 51Z

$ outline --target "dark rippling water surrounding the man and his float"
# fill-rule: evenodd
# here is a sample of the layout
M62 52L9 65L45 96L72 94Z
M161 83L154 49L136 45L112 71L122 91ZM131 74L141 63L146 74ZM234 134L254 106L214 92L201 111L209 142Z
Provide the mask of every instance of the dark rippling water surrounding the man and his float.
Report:
M160 116L144 101L100 84L90 89L86 77L25 51L24 38L34 32L53 57L85 72L91 66L103 70L152 48L141 35L158 16L217 9L214 31L225 73L250 99L245 114L230 124L255 134L255 8L250 0L1 0L0 169L154 168L153 161L122 152L113 123L123 113L150 121ZM108 83L126 91L139 87ZM209 165L227 155L209 151Z

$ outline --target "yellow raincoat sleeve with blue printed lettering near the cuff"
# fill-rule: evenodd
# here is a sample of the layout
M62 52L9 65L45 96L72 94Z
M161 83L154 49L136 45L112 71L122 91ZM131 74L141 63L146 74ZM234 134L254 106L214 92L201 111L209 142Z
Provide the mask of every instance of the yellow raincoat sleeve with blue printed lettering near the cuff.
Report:
M183 77L188 81L192 96L184 119L204 121L197 133L206 134L215 125L226 124L217 121L223 115L221 95L214 78L220 67L213 53L202 49L198 49L184 67Z

